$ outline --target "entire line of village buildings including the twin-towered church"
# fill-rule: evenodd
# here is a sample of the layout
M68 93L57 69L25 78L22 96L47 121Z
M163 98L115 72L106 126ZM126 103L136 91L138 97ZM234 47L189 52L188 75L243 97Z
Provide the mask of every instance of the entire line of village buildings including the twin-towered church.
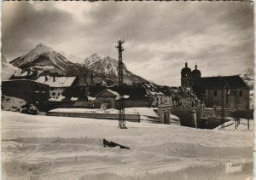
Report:
M24 72L20 78L3 81L3 95L17 96L36 106L50 108L95 108L101 107L102 103L107 108L118 108L119 95L125 97L126 107L160 107L166 104L172 108L187 108L205 103L206 107L218 108L224 103L225 108L245 109L249 102L247 84L238 75L202 78L197 66L191 73L187 63L181 72L181 87L146 82L124 85L120 90L113 80L102 80L93 74L65 77L44 73L44 76L28 80L24 79L26 75L31 77L32 73Z

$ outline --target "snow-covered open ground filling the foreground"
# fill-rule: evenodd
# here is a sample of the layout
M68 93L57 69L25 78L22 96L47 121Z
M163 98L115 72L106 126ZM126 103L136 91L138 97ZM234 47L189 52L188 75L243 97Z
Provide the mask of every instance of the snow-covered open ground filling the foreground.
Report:
M246 179L253 131L2 112L3 179ZM131 149L104 148L102 139ZM226 168L225 165L231 165ZM236 172L235 172L236 171ZM17 177L17 178L15 178ZM21 178L23 177L23 178Z

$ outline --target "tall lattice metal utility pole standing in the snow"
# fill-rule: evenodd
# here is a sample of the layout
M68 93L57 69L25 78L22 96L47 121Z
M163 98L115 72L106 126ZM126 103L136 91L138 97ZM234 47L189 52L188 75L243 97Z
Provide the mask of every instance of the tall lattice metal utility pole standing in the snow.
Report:
M119 128L126 129L125 127L125 100L123 93L123 60L122 52L125 50L122 44L125 43L124 40L119 40L116 48L119 51Z

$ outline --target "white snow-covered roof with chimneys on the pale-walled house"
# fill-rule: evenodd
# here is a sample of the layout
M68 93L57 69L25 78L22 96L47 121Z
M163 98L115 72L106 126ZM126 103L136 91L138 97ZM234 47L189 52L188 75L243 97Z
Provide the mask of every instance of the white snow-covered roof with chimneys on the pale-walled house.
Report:
M39 77L35 80L38 83L48 84L49 87L69 87L73 84L73 81L76 77L49 77L45 78L44 76Z

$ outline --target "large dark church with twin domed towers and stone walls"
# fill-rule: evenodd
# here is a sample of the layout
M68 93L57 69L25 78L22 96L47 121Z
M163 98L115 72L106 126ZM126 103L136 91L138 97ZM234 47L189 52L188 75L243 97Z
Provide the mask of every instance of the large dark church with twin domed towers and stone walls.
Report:
M205 103L206 107L247 109L249 107L249 87L239 75L201 77L195 64L191 71L185 63L181 71L181 86L191 89Z

